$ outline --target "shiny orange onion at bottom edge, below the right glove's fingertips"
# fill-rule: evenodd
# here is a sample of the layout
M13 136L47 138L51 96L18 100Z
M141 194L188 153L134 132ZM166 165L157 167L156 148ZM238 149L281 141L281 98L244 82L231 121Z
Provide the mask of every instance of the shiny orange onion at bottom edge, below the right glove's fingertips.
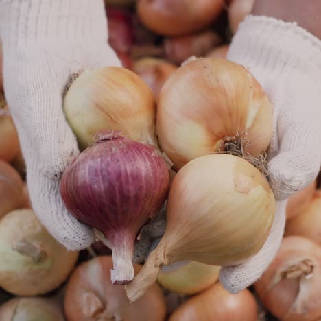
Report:
M220 283L190 298L169 321L257 321L257 302L248 291L230 294Z

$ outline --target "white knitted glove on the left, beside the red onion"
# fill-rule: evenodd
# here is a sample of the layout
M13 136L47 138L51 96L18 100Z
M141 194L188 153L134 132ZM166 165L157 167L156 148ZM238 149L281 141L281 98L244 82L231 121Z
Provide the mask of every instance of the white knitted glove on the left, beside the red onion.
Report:
M90 245L93 231L65 209L59 180L78 145L62 111L71 76L85 68L120 66L107 45L102 0L1 0L5 97L27 167L34 211L70 250Z

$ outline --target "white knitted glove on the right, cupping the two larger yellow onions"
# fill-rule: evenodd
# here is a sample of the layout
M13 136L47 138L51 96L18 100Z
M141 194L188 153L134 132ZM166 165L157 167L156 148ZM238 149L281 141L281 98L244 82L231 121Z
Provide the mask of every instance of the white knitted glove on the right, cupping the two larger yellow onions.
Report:
M222 268L220 274L228 291L239 292L257 281L278 251L285 226L284 199L309 185L320 169L321 42L296 23L249 16L233 38L228 59L246 67L274 105L268 151L270 184L278 200L274 224L255 257Z

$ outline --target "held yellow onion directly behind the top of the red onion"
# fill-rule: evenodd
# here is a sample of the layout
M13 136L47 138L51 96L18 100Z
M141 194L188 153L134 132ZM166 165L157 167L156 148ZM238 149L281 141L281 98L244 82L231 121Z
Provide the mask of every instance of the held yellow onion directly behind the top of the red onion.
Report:
M155 142L156 104L151 89L132 71L103 67L84 71L64 97L64 113L84 150L99 130L120 130L142 143Z

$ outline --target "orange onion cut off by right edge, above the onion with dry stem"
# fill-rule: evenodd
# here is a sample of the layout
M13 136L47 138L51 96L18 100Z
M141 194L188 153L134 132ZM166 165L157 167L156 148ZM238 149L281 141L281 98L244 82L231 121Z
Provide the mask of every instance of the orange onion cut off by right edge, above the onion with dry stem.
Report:
M287 221L285 235L300 235L321 245L321 191L314 193L313 199L302 213Z

